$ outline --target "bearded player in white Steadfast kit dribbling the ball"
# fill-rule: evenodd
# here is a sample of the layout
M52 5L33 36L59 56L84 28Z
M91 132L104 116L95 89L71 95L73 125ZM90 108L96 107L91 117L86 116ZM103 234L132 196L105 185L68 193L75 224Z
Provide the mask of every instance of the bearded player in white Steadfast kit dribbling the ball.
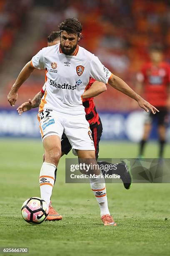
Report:
M60 23L60 44L40 50L22 69L8 94L8 101L14 106L18 89L32 71L35 68L47 70L47 87L38 114L45 150L45 162L40 170L40 191L42 199L47 204L50 204L55 169L61 156L60 141L63 131L77 152L80 163L97 166L95 146L81 99L89 77L104 84L109 82L113 88L136 100L147 112L148 108L153 114L158 112L122 79L105 68L95 55L78 46L77 43L82 37L81 32L82 25L76 18L67 18ZM101 171L98 168L91 168L87 174L100 175ZM97 177L89 179L100 207L102 222L104 225L117 225L108 209L105 181L101 182Z

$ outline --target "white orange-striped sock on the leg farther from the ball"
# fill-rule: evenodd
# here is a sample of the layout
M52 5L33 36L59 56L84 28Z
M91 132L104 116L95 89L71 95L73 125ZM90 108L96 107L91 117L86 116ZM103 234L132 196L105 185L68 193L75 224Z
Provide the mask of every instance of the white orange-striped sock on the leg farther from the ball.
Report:
M107 195L106 195L106 184L105 183L97 183L97 180L90 179L90 186L92 191L94 192L95 198L100 207L100 216L108 214L110 215L108 204L107 204Z

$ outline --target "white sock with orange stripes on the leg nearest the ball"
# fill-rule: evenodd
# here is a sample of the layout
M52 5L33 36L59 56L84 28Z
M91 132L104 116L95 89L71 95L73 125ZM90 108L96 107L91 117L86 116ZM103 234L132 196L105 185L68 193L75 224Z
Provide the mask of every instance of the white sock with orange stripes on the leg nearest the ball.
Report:
M50 204L50 197L54 186L55 169L56 166L54 164L44 162L40 170L41 198L45 200L47 205Z

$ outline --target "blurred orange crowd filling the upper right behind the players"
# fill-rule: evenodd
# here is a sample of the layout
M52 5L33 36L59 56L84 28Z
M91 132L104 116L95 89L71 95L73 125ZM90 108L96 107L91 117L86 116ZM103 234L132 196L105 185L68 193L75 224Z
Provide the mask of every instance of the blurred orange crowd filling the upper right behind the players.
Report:
M41 3L43 1L40 1ZM166 46L170 59L170 2L166 0L57 0L51 2L44 38L67 17L83 24L81 45L97 54L117 74L136 71L148 59L148 46L156 41ZM49 3L49 1L48 1ZM168 4L169 3L169 4ZM36 49L37 50L37 49Z

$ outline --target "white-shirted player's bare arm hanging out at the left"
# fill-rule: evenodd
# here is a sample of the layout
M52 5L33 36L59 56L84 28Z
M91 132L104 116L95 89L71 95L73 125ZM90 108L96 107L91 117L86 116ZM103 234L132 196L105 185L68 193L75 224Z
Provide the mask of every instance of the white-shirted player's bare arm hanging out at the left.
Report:
M19 76L17 77L17 80L15 81L15 83L13 84L10 92L7 95L7 100L10 102L11 106L15 106L15 102L18 98L18 89L20 88L20 86L23 84L23 82L25 82L26 79L28 79L28 77L30 76L30 74L32 73L32 71L35 68L32 67L31 65L31 61L29 61L25 67L23 67L23 69L21 70Z

